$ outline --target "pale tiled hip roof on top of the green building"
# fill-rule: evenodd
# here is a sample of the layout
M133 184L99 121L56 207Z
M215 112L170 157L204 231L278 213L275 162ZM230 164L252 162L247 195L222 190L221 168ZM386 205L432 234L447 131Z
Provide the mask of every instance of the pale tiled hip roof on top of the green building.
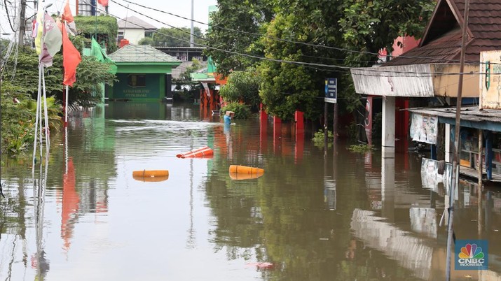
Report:
M181 61L165 54L150 45L125 45L123 48L118 49L116 52L108 55L116 63L121 62L150 62L150 63L170 63L179 65Z

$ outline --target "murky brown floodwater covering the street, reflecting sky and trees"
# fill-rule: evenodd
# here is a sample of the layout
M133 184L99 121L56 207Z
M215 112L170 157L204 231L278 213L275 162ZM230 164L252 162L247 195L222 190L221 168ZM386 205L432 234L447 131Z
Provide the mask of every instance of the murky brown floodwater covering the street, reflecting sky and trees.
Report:
M308 131L202 115L111 103L52 132L48 161L3 159L0 280L444 280L448 193L423 184L420 155L324 156ZM455 194L456 238L488 240L489 259L451 280L501 279L500 190Z

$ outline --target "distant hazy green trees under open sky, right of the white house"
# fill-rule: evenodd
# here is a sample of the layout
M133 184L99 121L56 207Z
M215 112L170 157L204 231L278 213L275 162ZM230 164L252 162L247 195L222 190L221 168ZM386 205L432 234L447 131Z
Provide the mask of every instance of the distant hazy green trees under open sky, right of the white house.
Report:
M190 45L191 29L188 27L166 28L162 27L153 34L154 46L188 47ZM180 39L180 40L179 40ZM205 44L203 34L199 27L193 28L193 43Z

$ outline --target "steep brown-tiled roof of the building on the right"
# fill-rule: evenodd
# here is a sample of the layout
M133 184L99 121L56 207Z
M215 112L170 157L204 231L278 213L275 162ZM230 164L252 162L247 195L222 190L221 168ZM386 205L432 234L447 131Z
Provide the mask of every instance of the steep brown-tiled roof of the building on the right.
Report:
M383 66L459 63L465 0L439 0L423 40ZM501 49L501 1L470 0L465 62L478 63L480 52Z

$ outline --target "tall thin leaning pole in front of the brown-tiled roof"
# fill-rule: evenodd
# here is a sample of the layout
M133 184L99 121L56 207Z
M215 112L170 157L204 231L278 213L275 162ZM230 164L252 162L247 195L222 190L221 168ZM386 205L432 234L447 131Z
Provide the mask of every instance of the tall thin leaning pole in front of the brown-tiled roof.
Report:
M454 194L456 183L458 182L457 177L459 175L459 159L460 159L460 120L461 120L461 97L462 97L462 72L465 69L465 45L468 28L468 10L469 10L469 0L465 1L465 15L463 16L464 22L462 23L462 38L461 38L461 57L459 66L459 79L458 79L458 99L455 102L455 128L454 128L454 155L452 162L452 182L451 188L449 189L449 219L448 219L448 233L447 233L447 253L446 253L446 281L451 280L451 251L453 244L453 219L454 219ZM480 154L481 155L481 154ZM481 160L482 157L480 156Z

